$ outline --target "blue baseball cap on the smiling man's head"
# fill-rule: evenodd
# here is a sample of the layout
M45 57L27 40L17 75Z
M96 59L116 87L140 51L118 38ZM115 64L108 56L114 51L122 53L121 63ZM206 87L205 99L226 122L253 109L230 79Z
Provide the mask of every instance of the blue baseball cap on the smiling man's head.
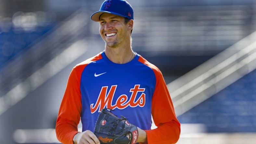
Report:
M103 13L115 14L125 18L133 19L133 8L125 0L105 0L99 11L91 15L91 19L94 21L99 21L99 17Z

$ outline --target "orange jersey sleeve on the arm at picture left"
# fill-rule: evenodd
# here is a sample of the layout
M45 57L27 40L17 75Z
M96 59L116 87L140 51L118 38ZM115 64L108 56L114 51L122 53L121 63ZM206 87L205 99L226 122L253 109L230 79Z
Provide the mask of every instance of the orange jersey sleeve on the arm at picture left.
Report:
M72 69L60 105L56 121L56 135L63 144L73 144L73 137L78 133L77 126L82 111L80 80L84 67L76 66Z

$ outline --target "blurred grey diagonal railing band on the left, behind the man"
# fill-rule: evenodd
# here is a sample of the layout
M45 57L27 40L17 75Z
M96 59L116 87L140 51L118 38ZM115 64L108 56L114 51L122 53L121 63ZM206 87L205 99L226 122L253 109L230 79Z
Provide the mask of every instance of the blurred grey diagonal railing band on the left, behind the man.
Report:
M76 11L0 71L0 115L87 51L87 14Z

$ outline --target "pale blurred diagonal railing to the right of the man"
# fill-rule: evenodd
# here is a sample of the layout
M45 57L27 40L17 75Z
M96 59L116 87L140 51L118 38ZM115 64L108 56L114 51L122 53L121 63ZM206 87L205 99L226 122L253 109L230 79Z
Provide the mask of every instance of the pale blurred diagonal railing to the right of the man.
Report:
M256 68L256 32L168 84L177 116Z

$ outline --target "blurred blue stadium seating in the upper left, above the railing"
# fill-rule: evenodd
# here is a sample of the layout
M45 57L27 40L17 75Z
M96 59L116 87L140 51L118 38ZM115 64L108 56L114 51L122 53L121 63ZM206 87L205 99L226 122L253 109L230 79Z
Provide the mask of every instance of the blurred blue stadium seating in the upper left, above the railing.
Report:
M12 19L0 21L0 69L54 27L55 23L45 24L45 21L38 20L40 18L33 13L17 12Z

